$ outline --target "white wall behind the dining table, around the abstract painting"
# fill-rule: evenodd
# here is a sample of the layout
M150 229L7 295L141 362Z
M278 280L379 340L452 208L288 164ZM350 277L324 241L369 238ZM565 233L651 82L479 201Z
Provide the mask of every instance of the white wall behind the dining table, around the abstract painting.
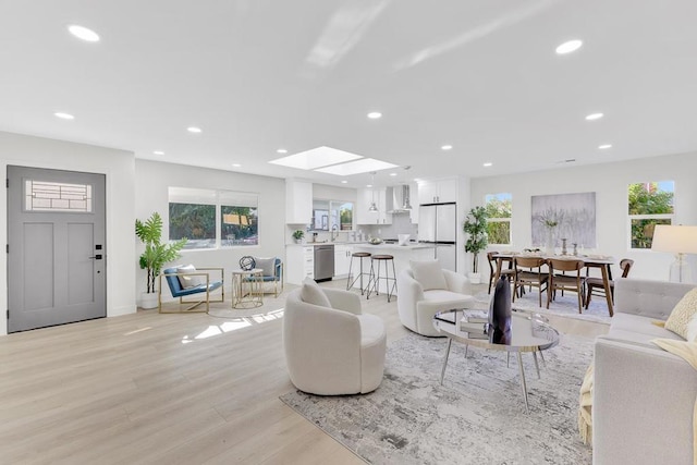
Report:
M539 171L472 180L472 204L484 205L486 194L513 195L512 246L530 246L530 196L596 193L596 250L634 259L633 278L668 280L670 254L629 250L627 185L649 181L675 181L675 224L697 224L697 154L671 155L613 163ZM490 247L491 248L491 247ZM506 247L497 246L504 250ZM689 260L695 265L695 257ZM482 270L485 268L482 267ZM697 270L696 270L697 271ZM613 273L619 267L613 268ZM616 274L614 274L616 276Z

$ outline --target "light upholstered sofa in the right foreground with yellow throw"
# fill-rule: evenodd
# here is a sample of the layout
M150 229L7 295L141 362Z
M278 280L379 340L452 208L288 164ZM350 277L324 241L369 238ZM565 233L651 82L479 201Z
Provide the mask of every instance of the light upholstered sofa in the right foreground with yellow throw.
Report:
M651 343L683 340L665 320L694 284L615 281L610 332L596 339L594 464L692 464L697 370Z

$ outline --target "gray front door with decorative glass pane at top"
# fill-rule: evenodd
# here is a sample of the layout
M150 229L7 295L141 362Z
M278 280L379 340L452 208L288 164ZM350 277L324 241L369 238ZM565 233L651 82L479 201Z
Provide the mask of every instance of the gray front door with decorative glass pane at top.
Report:
M8 167L8 331L107 316L105 175Z

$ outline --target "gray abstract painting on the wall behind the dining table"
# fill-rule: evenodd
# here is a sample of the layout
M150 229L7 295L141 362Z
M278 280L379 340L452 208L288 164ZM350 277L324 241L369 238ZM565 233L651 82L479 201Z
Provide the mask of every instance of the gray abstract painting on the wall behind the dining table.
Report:
M596 247L596 193L534 195L531 197L533 245L543 246L551 233L560 247L566 238L578 247Z

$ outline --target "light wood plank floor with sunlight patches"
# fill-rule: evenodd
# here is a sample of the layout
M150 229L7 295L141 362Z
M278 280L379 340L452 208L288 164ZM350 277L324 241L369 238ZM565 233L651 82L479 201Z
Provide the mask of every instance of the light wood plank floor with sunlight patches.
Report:
M283 302L267 295L261 310ZM386 321L388 344L407 333L395 299L363 302ZM235 321L139 310L0 338L0 463L362 464L279 401L293 389L281 327L273 313Z

